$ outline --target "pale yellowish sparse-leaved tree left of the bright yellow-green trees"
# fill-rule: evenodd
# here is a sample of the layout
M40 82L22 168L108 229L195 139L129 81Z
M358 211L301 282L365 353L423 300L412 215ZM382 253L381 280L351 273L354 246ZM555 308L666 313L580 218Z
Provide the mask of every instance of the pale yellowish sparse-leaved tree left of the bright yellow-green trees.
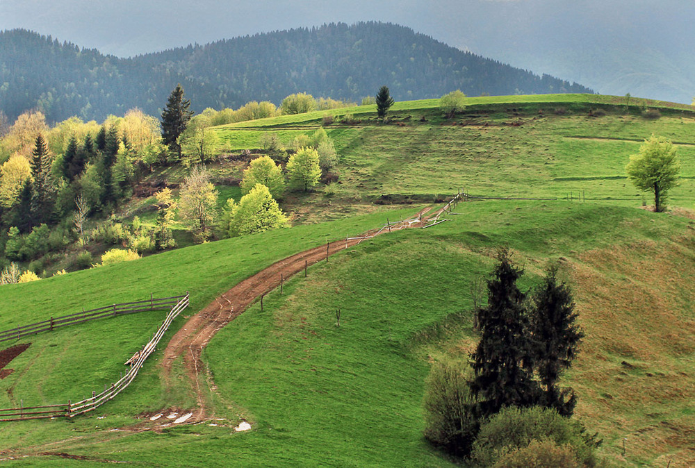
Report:
M210 173L200 166L190 170L179 192L179 219L188 225L197 240L207 240L217 217L218 191Z

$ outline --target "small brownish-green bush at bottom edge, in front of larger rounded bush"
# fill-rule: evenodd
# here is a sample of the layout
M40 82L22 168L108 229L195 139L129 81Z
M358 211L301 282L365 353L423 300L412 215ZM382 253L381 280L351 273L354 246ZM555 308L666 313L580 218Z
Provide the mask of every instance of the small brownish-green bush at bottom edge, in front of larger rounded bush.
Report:
M534 440L523 449L502 456L494 468L579 468L572 447L559 446L552 440Z

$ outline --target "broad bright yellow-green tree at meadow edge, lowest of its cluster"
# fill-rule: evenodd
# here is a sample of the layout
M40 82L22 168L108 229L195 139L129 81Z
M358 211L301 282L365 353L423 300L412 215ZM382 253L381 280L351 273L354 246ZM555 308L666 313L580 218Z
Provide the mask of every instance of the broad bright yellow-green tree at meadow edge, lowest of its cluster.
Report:
M287 217L272 199L270 190L258 183L241 197L239 203L227 200L229 210L229 236L271 231L288 226Z

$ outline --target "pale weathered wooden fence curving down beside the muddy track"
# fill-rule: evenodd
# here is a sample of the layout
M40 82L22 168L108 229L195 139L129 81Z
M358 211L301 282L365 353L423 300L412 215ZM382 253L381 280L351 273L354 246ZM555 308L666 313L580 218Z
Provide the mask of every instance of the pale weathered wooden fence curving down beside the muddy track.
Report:
M24 407L24 405L22 404L19 406L19 408L0 409L0 421L23 421L26 419L74 417L76 415L82 415L85 412L94 410L95 408L98 408L99 406L106 403L106 401L113 399L117 394L125 390L125 388L128 387L128 385L130 385L133 379L138 375L138 371L140 371L140 369L142 368L142 365L145 363L147 357L155 351L157 344L159 344L159 340L161 340L161 338L167 332L169 326L172 324L172 321L174 321L174 319L181 313L182 310L188 307L188 293L186 293L185 296L175 297L179 298L178 301L174 304L174 306L172 306L170 312L167 314L167 317L162 322L162 325L159 327L158 331L152 337L152 340L149 340L149 342L147 342L145 346L142 346L142 349L138 351L133 356L133 358L131 358L132 364L130 370L126 372L126 374L122 376L122 378L120 378L117 382L112 383L111 387L105 388L104 392L101 392L99 394L97 394L96 392L92 392L91 398L84 399L76 403L72 403L72 401L68 400L67 403L63 403L60 405ZM160 299L160 301L163 301L165 299ZM156 300L152 299L151 302L155 304ZM139 303L134 302L129 304L132 305Z

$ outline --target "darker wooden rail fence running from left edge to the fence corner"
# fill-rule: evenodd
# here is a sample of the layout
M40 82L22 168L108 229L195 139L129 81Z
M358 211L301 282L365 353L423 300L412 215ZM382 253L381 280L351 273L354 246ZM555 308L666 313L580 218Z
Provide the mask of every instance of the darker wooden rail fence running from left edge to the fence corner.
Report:
M115 315L133 314L135 312L145 312L145 310L163 309L174 306L184 296L163 297L154 299L152 294L149 301L126 302L122 304L112 304L98 309L82 310L76 314L63 315L63 317L51 317L48 320L38 321L35 324L18 326L6 331L0 331L0 342L6 340L17 340L19 338L34 335L42 331L54 331L55 328L80 324L83 321L103 319Z

